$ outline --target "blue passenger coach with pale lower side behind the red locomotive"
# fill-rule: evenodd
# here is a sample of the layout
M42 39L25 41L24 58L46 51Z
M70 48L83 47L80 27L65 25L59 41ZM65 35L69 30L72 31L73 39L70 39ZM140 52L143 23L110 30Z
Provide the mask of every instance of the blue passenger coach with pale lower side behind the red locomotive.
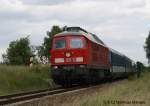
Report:
M135 63L125 55L113 49L109 49L109 62L111 65L110 72L114 77L128 76L135 72L135 68L133 68Z

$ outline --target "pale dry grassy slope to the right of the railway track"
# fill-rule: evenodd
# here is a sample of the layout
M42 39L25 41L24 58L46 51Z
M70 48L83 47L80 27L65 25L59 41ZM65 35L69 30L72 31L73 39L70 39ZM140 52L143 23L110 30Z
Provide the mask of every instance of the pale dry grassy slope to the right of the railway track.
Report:
M70 105L70 104L69 104ZM138 79L108 84L94 94L77 97L73 106L150 106L150 72ZM68 106L65 104L65 106Z

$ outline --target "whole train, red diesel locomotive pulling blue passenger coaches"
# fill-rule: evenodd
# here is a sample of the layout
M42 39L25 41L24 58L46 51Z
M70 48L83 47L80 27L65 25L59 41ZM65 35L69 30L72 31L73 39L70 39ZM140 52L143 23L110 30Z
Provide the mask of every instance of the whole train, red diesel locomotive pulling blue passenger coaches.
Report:
M135 72L132 60L80 27L67 27L53 37L51 66L54 82L63 86L89 84Z

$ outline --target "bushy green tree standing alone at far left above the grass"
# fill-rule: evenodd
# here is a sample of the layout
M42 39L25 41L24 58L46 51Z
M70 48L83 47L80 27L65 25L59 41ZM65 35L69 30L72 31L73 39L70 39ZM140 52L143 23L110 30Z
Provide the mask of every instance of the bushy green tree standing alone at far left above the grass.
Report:
M25 37L10 42L3 59L12 65L27 65L32 55L29 38Z

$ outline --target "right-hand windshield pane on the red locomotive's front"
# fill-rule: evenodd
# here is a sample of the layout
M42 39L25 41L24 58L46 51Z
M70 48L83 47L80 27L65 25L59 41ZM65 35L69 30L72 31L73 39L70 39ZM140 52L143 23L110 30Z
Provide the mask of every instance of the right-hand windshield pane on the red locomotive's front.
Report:
M82 48L83 41L80 38L72 38L70 40L70 48Z

